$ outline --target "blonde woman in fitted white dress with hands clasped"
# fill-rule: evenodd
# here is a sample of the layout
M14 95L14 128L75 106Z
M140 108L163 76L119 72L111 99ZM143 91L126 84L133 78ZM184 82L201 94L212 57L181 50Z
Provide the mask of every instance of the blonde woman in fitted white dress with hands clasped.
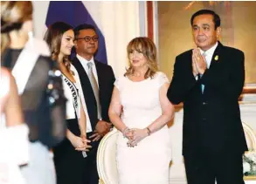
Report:
M156 45L148 37L128 44L129 68L114 83L109 117L120 131L116 161L119 184L168 184L171 158L167 123L174 106L169 80L158 72Z

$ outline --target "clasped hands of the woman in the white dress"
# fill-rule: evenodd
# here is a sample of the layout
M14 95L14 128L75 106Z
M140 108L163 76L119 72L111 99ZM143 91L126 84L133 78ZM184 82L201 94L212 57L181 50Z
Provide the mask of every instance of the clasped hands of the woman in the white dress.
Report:
M122 132L123 136L128 139L127 146L135 147L138 142L143 140L145 137L149 135L147 129L139 129L139 128L126 128Z

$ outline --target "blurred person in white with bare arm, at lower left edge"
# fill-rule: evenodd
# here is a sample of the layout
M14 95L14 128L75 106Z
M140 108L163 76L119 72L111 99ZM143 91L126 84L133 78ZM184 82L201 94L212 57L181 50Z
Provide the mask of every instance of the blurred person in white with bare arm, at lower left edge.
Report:
M0 183L24 184L19 166L28 163L28 127L24 124L15 79L3 67L0 85Z

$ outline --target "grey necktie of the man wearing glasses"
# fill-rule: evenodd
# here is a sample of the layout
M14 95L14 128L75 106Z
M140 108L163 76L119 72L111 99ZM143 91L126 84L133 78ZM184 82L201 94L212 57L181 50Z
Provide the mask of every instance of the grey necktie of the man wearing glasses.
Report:
M93 63L89 62L87 63L87 67L88 67L88 78L91 82L92 88L93 88L93 93L94 93L94 97L96 99L97 102L97 111L98 111L98 119L101 119L101 106L100 106L100 95L99 95L99 87L97 84L97 80L93 75Z

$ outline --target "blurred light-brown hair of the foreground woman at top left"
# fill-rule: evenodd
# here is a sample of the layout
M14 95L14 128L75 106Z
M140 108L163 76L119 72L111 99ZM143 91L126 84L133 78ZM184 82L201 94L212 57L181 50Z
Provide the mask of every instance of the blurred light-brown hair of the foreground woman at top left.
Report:
M30 1L1 2L1 53L10 44L10 31L20 30L25 21L32 19L33 6Z

